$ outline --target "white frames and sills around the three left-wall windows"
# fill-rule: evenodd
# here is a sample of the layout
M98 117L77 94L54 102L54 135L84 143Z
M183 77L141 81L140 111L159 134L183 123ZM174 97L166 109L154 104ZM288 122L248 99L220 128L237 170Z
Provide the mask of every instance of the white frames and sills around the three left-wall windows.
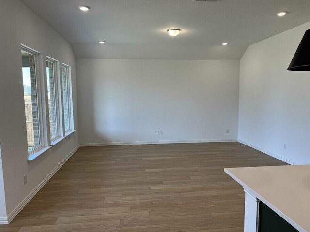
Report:
M74 130L74 118L73 118L73 97L72 97L72 79L71 79L71 67L60 61L42 54L24 44L21 44L21 51L29 53L34 57L34 70L35 70L35 81L36 81L36 102L37 102L37 113L32 111L32 115L38 115L38 128L39 128L39 141L40 146L28 151L28 162L36 159L43 153L47 152L53 145L58 144L66 136L73 133ZM22 55L21 54L21 58ZM23 69L23 60L21 60L21 67ZM54 81L54 95L55 95L55 110L56 110L56 127L57 136L51 138L51 123L49 122L49 105L48 105L48 85L49 85L49 73L47 73L48 63L53 63L53 81ZM32 65L29 65L31 67ZM27 65L25 65L27 67ZM66 99L68 105L68 126L69 129L65 131L64 125L64 99L63 99L63 86L62 86L62 67L65 68L66 78ZM32 70L32 69L31 69ZM24 83L24 77L28 77L21 72L21 78ZM32 80L32 79L31 79ZM25 82L28 86L28 81ZM32 82L33 83L33 82ZM32 85L33 86L33 85ZM32 93L31 93L32 95ZM34 99L33 99L34 100ZM25 102L25 93L24 93ZM31 98L31 104L32 103ZM25 108L26 109L26 108ZM25 112L25 126L26 111ZM34 112L34 113L33 113ZM32 129L33 131L36 131ZM32 135L31 135L32 136ZM32 137L31 137L32 138ZM32 141L32 140L31 140ZM37 141L37 140L35 140ZM28 147L28 133L27 133L27 146Z

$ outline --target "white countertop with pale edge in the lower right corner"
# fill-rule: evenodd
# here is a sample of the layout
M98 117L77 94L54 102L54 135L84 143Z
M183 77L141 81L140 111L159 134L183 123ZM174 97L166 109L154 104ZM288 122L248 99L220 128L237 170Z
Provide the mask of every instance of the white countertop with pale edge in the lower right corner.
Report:
M310 232L310 165L224 171L297 230Z

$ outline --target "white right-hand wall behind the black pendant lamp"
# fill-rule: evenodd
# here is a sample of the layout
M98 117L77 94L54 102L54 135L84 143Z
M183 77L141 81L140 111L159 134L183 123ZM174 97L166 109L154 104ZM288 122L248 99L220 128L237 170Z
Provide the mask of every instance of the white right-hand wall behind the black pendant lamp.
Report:
M310 72L286 69L307 29L252 44L240 61L239 141L297 164L310 164Z

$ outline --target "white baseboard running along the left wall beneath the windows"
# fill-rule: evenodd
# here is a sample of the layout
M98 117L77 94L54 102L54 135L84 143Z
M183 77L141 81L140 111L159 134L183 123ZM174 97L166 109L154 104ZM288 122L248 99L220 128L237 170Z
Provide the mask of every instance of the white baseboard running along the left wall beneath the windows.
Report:
M8 215L8 217L0 217L0 224L9 224L14 217L25 207L27 203L34 197L34 195L47 183L47 181L62 167L62 165L78 150L79 145L77 145L54 169L51 171L41 183L35 187L28 196L19 203L16 208Z

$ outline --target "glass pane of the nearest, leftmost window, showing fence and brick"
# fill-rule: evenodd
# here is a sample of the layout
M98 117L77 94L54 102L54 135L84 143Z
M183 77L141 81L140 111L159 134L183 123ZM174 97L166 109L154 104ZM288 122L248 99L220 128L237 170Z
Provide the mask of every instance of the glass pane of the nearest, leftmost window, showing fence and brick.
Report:
M40 146L35 56L21 51L28 152Z

